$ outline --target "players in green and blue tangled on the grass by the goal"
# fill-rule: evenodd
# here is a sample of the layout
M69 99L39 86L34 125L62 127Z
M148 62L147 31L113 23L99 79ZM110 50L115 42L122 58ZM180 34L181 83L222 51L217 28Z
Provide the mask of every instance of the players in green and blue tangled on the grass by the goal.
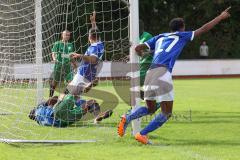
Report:
M112 115L111 110L100 112L100 106L95 100L76 100L74 96L68 94L60 98L50 97L32 109L29 118L43 126L67 127L80 121L88 112L94 115L95 123Z

